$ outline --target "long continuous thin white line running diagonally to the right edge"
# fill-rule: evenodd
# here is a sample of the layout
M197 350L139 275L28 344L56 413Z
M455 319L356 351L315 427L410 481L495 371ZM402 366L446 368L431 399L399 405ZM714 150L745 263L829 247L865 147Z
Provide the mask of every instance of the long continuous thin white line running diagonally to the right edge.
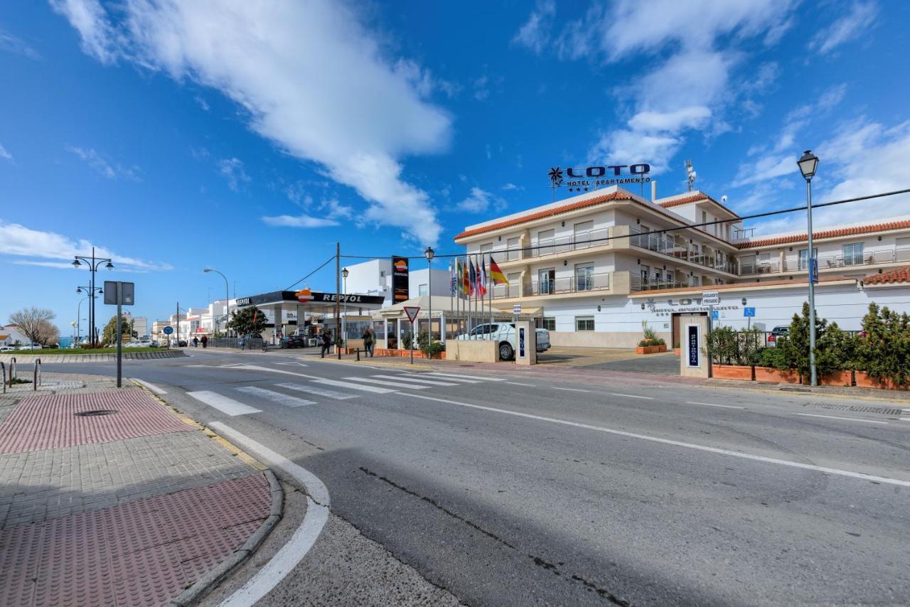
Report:
M682 440L661 439L656 436L648 436L646 434L636 434L634 432L627 432L625 430L612 430L611 428L602 428L601 426L591 426L590 424L583 424L583 423L579 423L577 421L559 420L556 418L543 417L542 415L532 415L531 413L521 413L519 411L496 409L495 407L485 407L483 405L472 405L470 403L459 402L457 400L438 399L436 397L426 396L424 394L410 394L408 392L399 392L399 393L402 396L410 396L413 399L436 400L438 402L445 402L450 405L458 405L459 407L468 407L470 409L492 411L494 413L503 413L505 415L514 415L516 417L526 418L528 420L549 421L550 423L561 424L563 426L572 426L573 428L583 428L585 430L606 432L607 434L615 434L617 436L624 436L624 437L627 437L630 439L650 440L652 442L658 442L663 445L671 445L673 447L682 447L685 449L706 451L708 453L717 453L718 455L729 455L734 458L742 458L743 460L761 461L763 463L778 464L781 466L789 466L791 468L799 468L802 470L813 470L815 472L824 472L825 474L835 474L838 476L845 476L845 477L850 477L853 479L861 479L863 481L877 481L877 482L883 482L883 483L886 483L889 485L898 485L900 487L910 487L910 481L900 481L899 479L889 479L885 476L875 476L874 474L865 474L864 472L854 472L851 470L840 470L837 468L825 468L824 466L815 466L814 464L804 464L800 461L778 460L777 458L769 458L769 457L765 457L763 455L753 455L751 453L743 453L741 451L731 451L731 450L726 450L726 449L718 449L717 447L707 447L705 445L696 445L691 442L682 442Z

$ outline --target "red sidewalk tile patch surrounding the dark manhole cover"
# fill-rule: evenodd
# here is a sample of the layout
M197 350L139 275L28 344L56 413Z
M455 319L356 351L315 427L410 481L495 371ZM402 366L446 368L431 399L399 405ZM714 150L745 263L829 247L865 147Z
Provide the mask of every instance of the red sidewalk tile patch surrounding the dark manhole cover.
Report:
M79 411L117 413L77 417ZM72 447L193 430L140 390L32 396L19 402L0 426L0 453Z

